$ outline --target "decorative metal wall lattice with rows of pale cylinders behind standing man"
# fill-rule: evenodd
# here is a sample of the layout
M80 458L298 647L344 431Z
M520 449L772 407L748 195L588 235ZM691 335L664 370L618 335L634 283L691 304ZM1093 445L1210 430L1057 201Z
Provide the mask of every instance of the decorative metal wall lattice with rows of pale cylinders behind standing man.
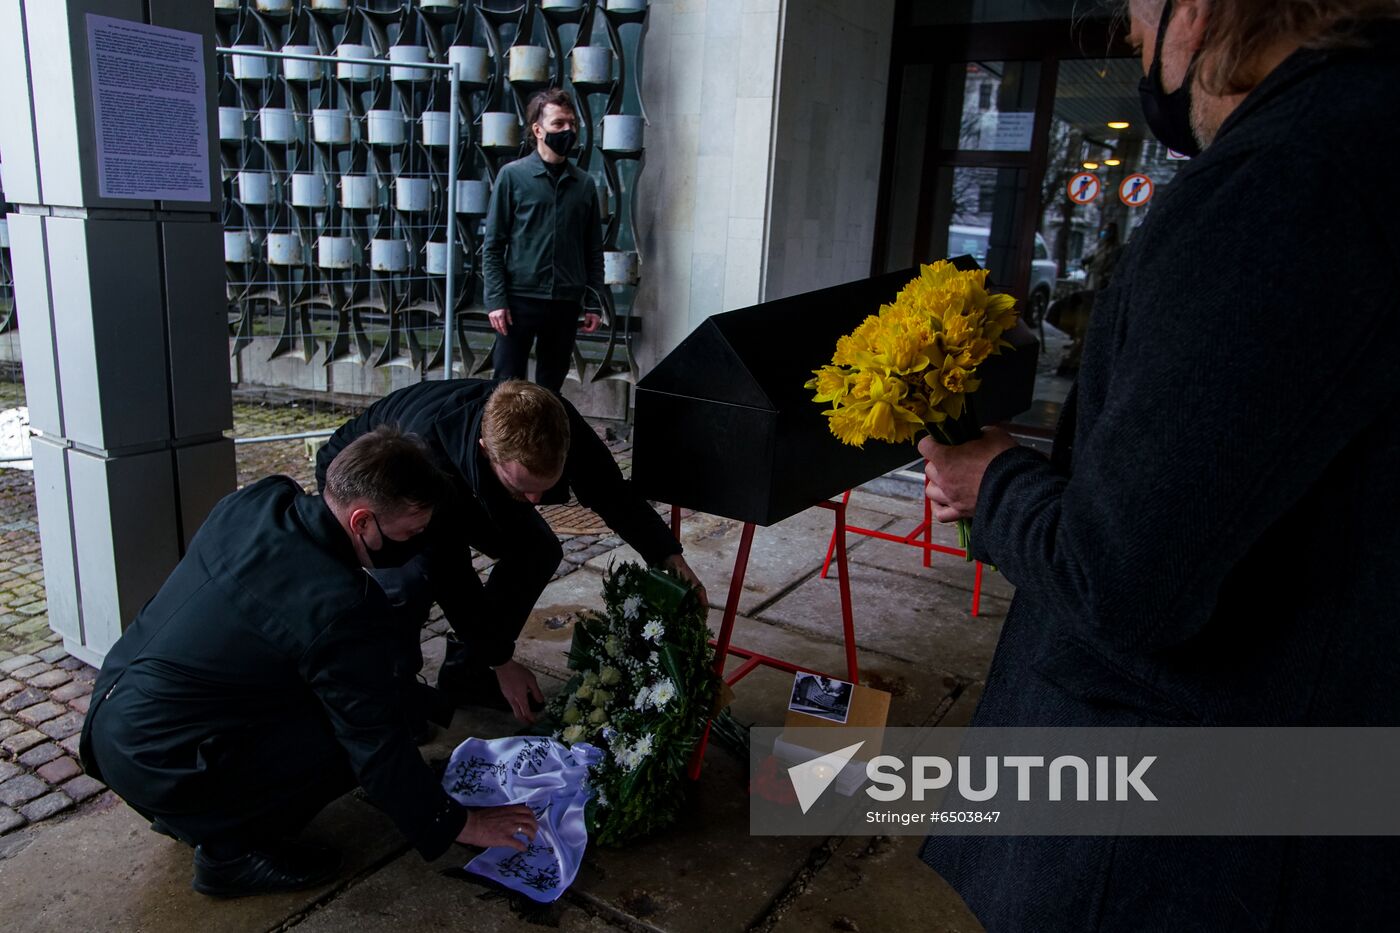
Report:
M528 153L525 104L546 87L578 109L574 160L598 185L605 280L585 307L580 381L636 381L633 199L643 168L647 0L214 0L218 45L377 59L382 67L225 55L218 136L232 352L441 368L456 262L454 371L486 374L482 227L500 168ZM445 71L458 69L461 125ZM448 147L459 148L448 178ZM456 186L448 217L447 186ZM455 224L458 255L447 255Z

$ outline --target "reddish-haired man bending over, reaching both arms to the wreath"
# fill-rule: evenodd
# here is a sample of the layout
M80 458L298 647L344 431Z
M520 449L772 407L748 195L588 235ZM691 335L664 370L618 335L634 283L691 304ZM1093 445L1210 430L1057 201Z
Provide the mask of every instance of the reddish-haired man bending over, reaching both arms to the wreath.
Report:
M438 688L456 706L510 709L532 723L532 703L545 699L535 674L514 660L515 639L564 558L538 504L577 495L648 565L672 570L707 602L671 528L578 409L550 389L524 380L431 380L391 392L321 448L322 489L332 458L378 424L423 437L456 492L434 514L419 555L427 567L420 618L435 600L452 626ZM484 584L473 548L496 559Z

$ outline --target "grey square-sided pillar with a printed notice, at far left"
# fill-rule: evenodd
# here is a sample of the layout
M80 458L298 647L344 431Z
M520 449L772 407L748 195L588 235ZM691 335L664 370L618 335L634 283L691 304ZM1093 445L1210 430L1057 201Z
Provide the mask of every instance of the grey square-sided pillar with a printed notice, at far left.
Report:
M113 137L97 126L91 15L202 39L207 189L197 146L193 167L169 170L179 177L172 186L193 179L200 199L113 195L129 191L129 175L118 184L116 172L139 160L165 171L157 163L171 137L150 119L162 106L154 98L134 106L132 97L104 97L104 118L123 122L130 161L108 158L101 185L99 141L111 153ZM146 36L133 31L129 45L102 52L134 56L126 78L136 83L150 74L141 56L158 64L175 48L158 32ZM94 664L235 485L223 434L232 402L218 147L207 119L217 113L214 64L209 3L0 0L0 151L15 206L8 221L49 625ZM162 78L148 84L164 92ZM171 104L186 119L189 106Z

